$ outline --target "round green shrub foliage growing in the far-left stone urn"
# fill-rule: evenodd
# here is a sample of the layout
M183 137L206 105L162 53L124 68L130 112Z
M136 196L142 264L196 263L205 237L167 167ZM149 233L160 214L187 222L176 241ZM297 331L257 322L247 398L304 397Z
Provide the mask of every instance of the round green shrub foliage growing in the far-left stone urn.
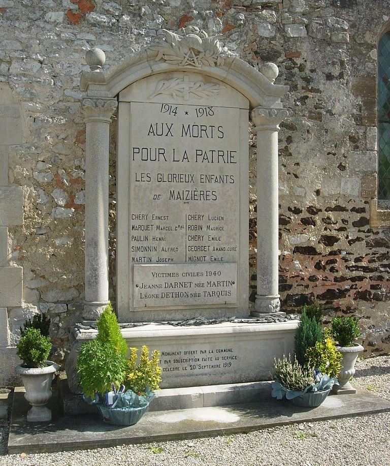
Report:
M48 358L51 343L50 339L33 327L27 327L24 335L16 345L17 355L23 361L24 367L41 367Z

